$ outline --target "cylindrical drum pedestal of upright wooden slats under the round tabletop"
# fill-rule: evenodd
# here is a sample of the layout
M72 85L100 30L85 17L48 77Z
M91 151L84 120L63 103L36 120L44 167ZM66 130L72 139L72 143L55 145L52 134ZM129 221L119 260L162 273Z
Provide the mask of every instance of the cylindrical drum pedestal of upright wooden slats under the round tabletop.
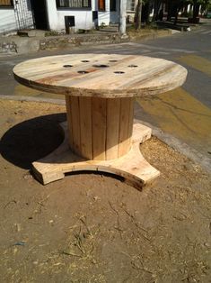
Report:
M130 150L133 97L66 96L70 148L89 160L114 160Z

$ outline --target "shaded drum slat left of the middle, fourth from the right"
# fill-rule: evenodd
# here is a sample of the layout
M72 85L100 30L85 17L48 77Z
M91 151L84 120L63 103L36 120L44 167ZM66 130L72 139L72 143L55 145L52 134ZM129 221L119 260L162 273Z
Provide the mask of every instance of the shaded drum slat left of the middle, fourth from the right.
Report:
M81 154L92 160L92 98L80 97Z

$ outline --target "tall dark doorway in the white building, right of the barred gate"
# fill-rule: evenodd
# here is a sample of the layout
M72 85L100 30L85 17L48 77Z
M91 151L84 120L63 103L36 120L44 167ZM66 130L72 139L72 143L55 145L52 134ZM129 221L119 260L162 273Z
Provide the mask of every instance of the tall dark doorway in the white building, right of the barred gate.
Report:
M46 1L31 0L31 10L34 18L35 28L38 30L48 30Z

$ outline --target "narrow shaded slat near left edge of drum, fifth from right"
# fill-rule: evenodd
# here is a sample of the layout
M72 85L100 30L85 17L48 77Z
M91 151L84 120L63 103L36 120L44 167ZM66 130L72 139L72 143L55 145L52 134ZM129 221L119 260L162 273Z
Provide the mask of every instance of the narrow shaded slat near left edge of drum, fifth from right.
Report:
M81 129L80 129L80 112L79 97L70 97L70 111L73 132L73 151L81 155Z

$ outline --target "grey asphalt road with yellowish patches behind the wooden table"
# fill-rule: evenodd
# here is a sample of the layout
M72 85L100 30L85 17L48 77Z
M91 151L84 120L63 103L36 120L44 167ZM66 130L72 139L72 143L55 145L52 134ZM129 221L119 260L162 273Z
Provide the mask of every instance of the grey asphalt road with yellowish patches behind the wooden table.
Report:
M61 98L18 85L13 66L25 59L66 53L140 54L171 59L188 69L186 83L154 99L138 99L137 117L186 142L211 158L211 23L191 32L151 41L84 46L71 50L40 51L33 54L0 57L0 96L36 96ZM211 163L210 163L211 164Z

